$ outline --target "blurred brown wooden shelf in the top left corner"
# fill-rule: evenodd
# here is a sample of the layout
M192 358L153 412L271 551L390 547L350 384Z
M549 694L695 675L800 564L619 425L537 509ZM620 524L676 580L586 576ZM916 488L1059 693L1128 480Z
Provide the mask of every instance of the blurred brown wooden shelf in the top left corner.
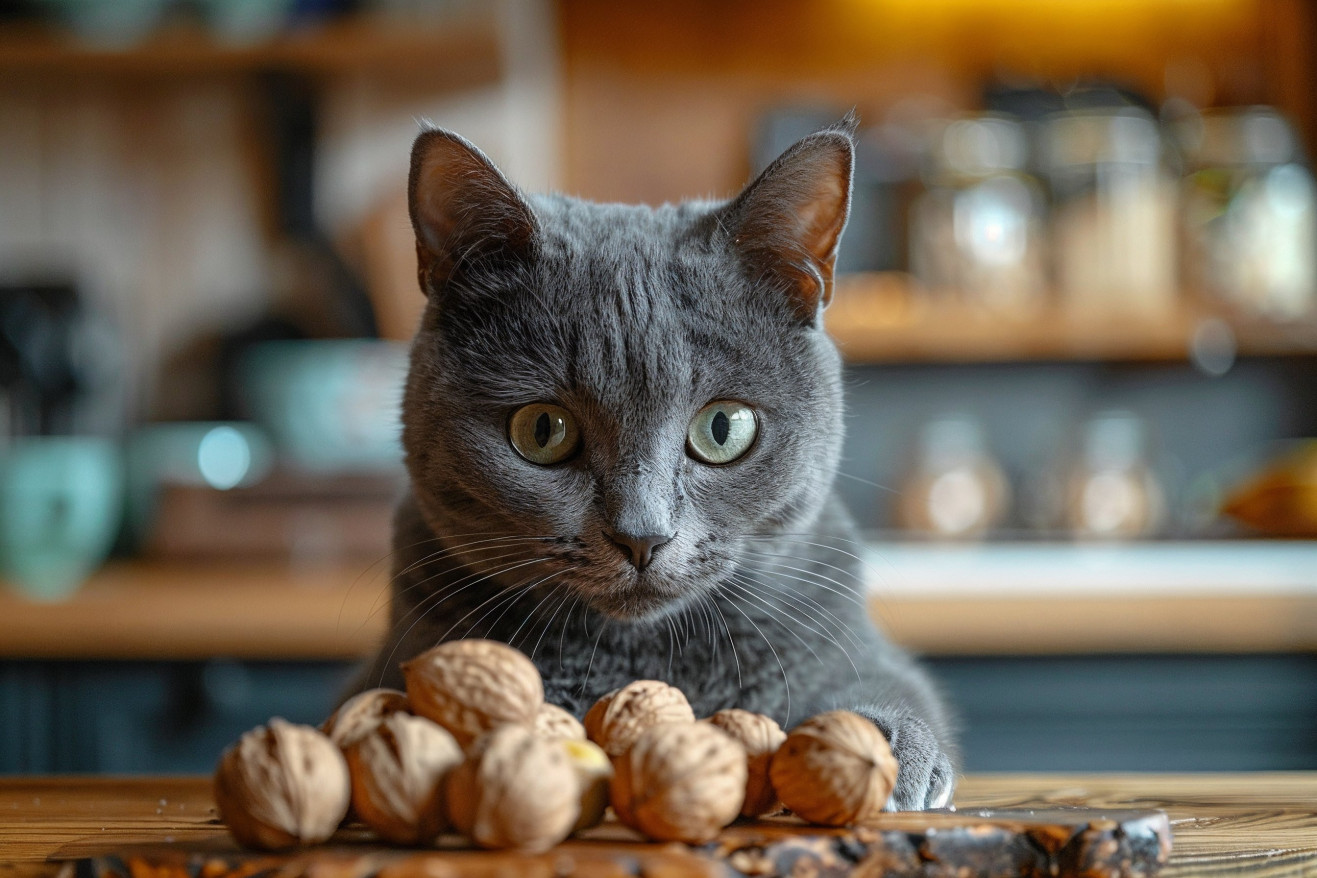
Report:
M497 22L485 14L423 28L344 18L252 45L225 43L195 28L167 28L124 49L95 46L50 28L0 28L0 72L11 75L163 78L371 70L420 76L465 68L495 74L498 67Z

